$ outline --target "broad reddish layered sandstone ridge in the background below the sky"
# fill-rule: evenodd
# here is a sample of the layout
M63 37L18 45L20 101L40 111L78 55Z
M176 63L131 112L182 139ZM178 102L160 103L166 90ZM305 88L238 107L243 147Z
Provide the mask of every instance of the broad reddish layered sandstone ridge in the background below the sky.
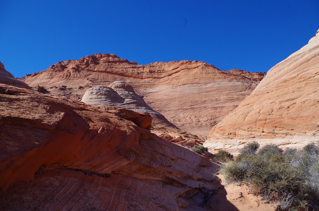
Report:
M81 99L88 88L125 81L147 105L175 126L205 137L264 76L265 73L242 70L223 71L205 62L137 65L114 54L95 54L58 62L21 80L71 99Z

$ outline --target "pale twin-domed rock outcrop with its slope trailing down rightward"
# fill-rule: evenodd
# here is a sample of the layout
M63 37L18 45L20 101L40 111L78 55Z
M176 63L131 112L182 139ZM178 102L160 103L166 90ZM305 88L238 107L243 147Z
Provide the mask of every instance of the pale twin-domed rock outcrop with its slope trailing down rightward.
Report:
M165 140L193 147L204 140L180 130L169 122L162 114L148 106L144 99L137 95L130 84L124 81L115 81L108 86L98 85L89 88L81 100L90 105L109 105L126 108L139 113L148 113L152 116L152 132Z

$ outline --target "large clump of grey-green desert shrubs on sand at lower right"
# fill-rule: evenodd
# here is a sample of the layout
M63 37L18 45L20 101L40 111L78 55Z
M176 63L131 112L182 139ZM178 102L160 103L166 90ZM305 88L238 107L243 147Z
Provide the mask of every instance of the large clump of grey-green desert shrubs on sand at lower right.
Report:
M267 200L278 202L278 209L292 206L318 208L319 150L308 144L302 150L273 145L262 147L257 154L244 153L234 161L220 165L219 174L227 183L245 182L252 192ZM248 151L250 152L250 151Z

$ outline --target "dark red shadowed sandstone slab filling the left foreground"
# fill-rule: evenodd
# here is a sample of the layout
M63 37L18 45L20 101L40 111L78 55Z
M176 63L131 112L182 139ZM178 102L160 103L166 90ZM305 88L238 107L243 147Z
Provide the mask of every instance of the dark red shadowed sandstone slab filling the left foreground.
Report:
M148 114L9 85L0 102L4 210L204 210L198 185L218 184L217 166L152 135Z

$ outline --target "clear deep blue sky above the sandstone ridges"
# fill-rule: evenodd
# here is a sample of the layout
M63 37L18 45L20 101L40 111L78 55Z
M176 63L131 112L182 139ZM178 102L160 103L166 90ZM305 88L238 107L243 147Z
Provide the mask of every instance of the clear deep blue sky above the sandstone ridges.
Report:
M0 11L0 61L16 77L95 53L263 72L319 28L318 0L0 0Z

